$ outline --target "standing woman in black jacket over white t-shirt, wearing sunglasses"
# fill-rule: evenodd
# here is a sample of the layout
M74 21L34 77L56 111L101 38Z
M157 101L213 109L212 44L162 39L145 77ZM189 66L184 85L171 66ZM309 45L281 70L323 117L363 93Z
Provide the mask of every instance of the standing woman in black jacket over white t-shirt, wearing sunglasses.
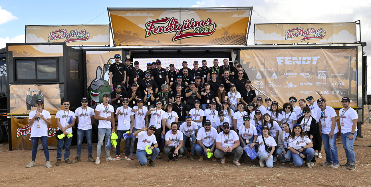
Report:
M318 146L316 146L317 143L321 141L317 122L312 117L311 108L309 108L309 106L303 108L303 113L304 115L298 119L298 124L302 126L303 131L308 135L313 144L313 149L316 150L318 148ZM315 162L316 160L313 157L311 160L311 166L315 166Z

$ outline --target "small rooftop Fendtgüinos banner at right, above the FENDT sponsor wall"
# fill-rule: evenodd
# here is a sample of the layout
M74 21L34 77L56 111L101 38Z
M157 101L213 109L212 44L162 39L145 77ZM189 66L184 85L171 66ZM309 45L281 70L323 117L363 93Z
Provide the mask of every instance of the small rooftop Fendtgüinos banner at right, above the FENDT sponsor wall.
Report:
M356 41L356 23L255 24L256 44Z

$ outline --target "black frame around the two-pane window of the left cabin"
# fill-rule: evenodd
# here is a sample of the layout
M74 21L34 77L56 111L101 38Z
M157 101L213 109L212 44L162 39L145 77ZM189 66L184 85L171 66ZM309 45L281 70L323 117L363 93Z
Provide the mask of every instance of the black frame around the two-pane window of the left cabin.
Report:
M35 79L18 79L17 78L17 61L30 61L35 60ZM38 60L55 60L56 61L56 79L38 79L37 78L37 61ZM19 58L13 58L13 65L14 65L14 82L36 82L36 81L42 81L42 82L59 82L59 57L19 57Z

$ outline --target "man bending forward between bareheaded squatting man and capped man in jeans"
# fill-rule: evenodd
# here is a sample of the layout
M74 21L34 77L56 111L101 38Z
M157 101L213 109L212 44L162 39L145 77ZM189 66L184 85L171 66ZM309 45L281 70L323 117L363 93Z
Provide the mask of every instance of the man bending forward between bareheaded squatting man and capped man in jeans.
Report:
M195 154L194 146L197 143L196 135L198 132L198 125L196 122L192 121L192 116L188 115L185 117L185 122L180 125L179 130L183 132L183 152L185 154L183 155L183 159L188 158L189 156L190 160L193 161L193 154ZM196 133L194 131L196 131ZM184 146L188 139L190 140L191 144L191 154L189 154L187 148Z

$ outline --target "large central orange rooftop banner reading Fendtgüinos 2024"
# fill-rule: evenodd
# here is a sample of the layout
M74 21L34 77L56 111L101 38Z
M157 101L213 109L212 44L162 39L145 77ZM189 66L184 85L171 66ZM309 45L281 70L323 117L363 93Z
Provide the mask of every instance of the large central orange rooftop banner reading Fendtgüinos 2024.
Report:
M244 45L252 7L108 10L116 46Z

